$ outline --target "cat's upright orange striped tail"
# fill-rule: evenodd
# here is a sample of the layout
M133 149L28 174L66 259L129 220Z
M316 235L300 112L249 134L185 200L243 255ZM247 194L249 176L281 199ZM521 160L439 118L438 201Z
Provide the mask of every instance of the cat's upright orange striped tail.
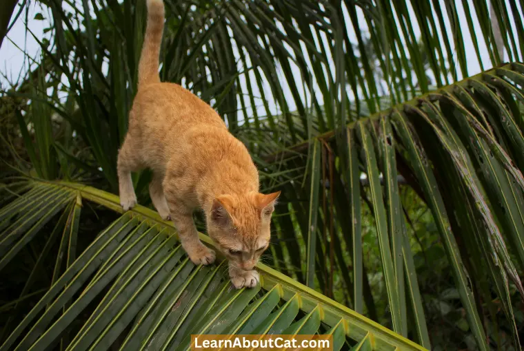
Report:
M139 86L160 83L159 56L165 10L163 0L147 0L148 24L145 28L139 62Z

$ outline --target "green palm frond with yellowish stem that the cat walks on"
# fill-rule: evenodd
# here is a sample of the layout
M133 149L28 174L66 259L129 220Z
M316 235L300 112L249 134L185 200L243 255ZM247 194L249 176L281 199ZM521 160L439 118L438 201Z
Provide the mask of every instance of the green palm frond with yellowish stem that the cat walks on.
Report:
M334 350L424 350L262 264L259 286L234 289L225 260L194 266L172 224L143 206L79 249L87 206L121 211L110 193L30 179L3 190L12 196L0 209L8 252L0 274L17 259L13 251L29 246L39 255L31 277L47 271L48 259L56 265L48 288L31 292L28 279L19 299L0 307L18 311L3 323L0 350L190 350L191 334L330 334ZM49 257L53 246L58 254Z

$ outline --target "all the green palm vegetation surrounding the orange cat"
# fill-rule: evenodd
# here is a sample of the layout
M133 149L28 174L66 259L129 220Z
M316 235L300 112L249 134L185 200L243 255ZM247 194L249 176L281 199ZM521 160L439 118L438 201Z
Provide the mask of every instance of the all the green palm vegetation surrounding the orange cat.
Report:
M521 349L522 1L166 1L161 78L219 111L282 191L261 286L239 291L112 195L145 2L6 10L0 43L25 21L41 51L4 72L0 350L179 350L191 330ZM150 172L133 179L152 208Z

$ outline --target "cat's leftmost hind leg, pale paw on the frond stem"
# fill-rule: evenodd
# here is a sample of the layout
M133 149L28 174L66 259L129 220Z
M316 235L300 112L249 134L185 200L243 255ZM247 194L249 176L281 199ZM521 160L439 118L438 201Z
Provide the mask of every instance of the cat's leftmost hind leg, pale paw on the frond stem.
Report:
M124 211L132 209L137 204L137 195L134 193L131 172L139 171L143 168L139 151L137 150L137 145L134 145L134 141L130 133L125 136L117 161L120 204Z

